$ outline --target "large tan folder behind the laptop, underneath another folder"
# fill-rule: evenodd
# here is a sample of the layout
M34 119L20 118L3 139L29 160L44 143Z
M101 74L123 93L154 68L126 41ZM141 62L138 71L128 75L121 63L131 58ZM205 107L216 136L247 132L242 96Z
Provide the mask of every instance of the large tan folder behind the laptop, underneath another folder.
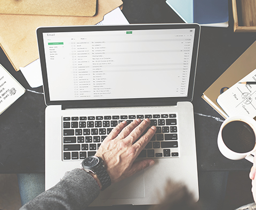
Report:
M38 58L37 27L94 25L122 4L121 0L98 0L98 13L92 17L1 14L0 45L18 71Z

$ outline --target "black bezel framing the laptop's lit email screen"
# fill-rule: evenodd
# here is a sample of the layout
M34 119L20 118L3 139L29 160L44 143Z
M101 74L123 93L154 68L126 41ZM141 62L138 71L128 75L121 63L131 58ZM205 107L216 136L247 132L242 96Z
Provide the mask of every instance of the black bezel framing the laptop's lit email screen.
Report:
M193 54L191 57L191 68L189 75L189 87L187 97L165 97L165 98L127 98L127 99L90 99L90 100L50 100L49 85L46 71L45 51L43 33L52 32L76 32L76 31L114 31L114 30L152 30L152 29L195 29ZM192 101L195 85L195 74L199 35L201 27L192 23L172 24L131 24L118 26L65 26L65 27L39 27L36 30L39 58L41 62L43 89L45 104L63 105L66 107L122 107L122 106L161 106L173 105L178 101Z

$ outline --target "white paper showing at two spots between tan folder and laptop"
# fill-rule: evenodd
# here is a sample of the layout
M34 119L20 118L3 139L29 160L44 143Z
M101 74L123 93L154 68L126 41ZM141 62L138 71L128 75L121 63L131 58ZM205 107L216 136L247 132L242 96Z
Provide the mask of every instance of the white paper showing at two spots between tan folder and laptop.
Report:
M97 25L110 25L110 24L129 24L121 9L117 7L115 10L106 14L103 20ZM20 71L26 78L31 88L37 88L43 85L41 65L39 59L28 64L24 68L20 67Z

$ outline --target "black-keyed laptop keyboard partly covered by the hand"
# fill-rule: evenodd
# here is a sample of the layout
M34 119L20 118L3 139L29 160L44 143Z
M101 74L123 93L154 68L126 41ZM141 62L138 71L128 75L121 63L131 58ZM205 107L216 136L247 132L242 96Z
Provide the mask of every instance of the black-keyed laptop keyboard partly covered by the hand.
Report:
M149 118L157 130L138 158L179 157L177 114L141 114L114 116L63 116L62 160L84 159L94 155L101 142L116 125L124 120ZM146 132L146 131L145 131Z

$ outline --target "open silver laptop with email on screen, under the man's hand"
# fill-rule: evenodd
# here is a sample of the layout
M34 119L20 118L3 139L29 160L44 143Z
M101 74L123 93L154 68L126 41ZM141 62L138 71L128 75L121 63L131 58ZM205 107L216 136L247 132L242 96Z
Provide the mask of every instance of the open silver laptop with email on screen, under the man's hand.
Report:
M167 180L198 199L193 99L200 26L134 24L37 29L45 96L45 188L81 167L119 122L149 118L138 158L155 164L91 206L159 203Z

